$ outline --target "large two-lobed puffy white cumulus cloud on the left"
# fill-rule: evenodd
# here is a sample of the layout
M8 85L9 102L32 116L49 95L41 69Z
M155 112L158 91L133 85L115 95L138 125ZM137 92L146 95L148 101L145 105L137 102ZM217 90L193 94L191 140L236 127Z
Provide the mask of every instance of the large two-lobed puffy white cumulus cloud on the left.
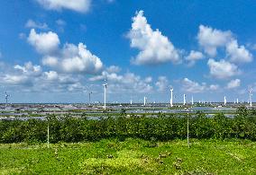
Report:
M78 46L67 43L59 48L59 37L51 31L36 33L32 29L28 41L43 55L42 65L60 72L97 74L103 68L100 58L92 54L83 43Z

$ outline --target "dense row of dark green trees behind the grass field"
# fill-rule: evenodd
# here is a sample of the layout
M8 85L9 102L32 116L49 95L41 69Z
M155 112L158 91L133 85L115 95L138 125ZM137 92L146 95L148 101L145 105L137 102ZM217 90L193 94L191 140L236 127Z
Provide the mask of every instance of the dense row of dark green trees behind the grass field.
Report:
M172 140L187 137L187 118L191 138L242 138L256 141L256 118L254 110L245 107L237 109L234 118L223 113L213 118L197 112L196 115L175 115L159 113L157 118L146 115L129 118L125 113L118 117L99 120L57 118L48 116L47 120L29 119L0 120L0 143L46 142L47 127L50 127L50 143L96 141L102 138L139 137L147 140Z

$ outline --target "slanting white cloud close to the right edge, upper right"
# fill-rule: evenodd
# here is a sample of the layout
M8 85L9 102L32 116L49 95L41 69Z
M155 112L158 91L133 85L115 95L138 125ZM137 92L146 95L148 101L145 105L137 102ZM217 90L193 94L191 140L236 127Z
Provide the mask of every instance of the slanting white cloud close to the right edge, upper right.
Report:
M227 43L226 51L231 62L248 63L252 61L251 53L244 46L239 47L236 39Z

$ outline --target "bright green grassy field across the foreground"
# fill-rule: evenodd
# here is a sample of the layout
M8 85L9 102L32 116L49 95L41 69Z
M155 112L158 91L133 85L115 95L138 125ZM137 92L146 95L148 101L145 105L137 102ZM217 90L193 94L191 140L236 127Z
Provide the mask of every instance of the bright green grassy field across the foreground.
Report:
M0 144L0 174L256 174L254 142L191 142Z

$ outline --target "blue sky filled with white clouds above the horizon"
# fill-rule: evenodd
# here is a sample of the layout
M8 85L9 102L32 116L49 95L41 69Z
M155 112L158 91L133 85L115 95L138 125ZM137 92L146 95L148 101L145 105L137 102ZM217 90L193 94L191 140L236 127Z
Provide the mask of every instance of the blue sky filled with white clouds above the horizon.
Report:
M0 102L248 101L255 1L0 2ZM252 101L254 98L252 96Z

